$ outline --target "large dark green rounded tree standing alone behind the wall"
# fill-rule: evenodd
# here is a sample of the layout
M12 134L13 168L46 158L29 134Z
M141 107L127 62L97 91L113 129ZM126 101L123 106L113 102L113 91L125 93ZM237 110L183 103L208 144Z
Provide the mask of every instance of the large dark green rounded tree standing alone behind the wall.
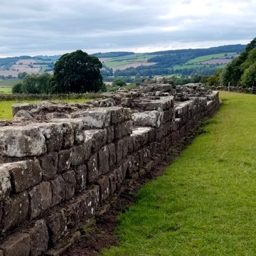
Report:
M66 53L54 65L51 92L97 92L102 87L102 63L82 50Z

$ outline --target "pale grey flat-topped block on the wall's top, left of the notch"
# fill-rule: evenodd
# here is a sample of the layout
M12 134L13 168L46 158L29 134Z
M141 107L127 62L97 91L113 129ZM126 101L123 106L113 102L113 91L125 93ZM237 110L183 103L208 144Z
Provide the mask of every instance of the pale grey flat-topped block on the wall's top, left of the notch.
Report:
M80 117L84 127L105 128L110 126L111 112L108 107L95 107L89 110L73 112L71 117Z

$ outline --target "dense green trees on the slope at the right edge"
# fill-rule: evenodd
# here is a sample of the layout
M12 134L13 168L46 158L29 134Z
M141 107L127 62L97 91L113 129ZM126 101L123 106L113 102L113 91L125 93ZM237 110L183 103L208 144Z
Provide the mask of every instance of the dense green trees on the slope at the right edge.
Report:
M218 70L208 78L210 85L251 87L256 85L256 38L223 70Z

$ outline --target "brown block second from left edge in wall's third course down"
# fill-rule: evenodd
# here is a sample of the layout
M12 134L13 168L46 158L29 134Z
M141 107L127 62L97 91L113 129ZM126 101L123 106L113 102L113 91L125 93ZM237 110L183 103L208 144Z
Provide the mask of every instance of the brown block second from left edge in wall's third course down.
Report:
M30 198L30 217L36 218L43 213L44 210L50 208L52 204L52 191L50 188L50 182L43 181L37 186L34 186L31 191L28 192Z

